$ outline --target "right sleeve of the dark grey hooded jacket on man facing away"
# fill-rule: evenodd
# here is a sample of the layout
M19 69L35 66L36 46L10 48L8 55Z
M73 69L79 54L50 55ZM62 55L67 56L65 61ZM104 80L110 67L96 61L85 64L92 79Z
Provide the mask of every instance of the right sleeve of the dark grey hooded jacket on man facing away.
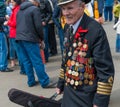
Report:
M41 13L40 13L39 8L34 9L33 20L34 20L34 27L35 27L37 34L38 34L40 40L43 40L44 39L43 27L42 27Z

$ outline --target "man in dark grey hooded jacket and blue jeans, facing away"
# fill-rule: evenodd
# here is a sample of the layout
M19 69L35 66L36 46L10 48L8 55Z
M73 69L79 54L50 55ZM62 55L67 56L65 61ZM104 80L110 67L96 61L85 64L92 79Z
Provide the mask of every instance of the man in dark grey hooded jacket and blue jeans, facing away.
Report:
M56 84L46 73L45 65L40 55L40 45L44 46L44 35L39 0L25 1L20 5L17 14L16 42L21 53L29 87L37 85L34 71L43 88L53 88Z

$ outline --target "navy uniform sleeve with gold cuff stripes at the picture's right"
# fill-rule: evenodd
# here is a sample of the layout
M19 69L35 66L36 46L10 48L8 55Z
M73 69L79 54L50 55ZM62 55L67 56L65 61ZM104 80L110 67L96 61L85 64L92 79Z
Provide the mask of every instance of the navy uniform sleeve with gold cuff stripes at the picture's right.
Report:
M99 28L96 36L92 50L98 82L93 104L108 107L114 81L114 65L103 28Z

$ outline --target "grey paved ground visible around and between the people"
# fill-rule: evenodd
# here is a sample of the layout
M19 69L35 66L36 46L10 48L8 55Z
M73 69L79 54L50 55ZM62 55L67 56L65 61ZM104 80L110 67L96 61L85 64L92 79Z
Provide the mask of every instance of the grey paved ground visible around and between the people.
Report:
M108 35L108 40L110 43L112 57L115 65L116 75L114 87L112 90L110 106L109 107L120 107L120 54L115 53L115 38L116 34L113 30L113 22L105 23L104 28ZM58 44L59 45L59 44ZM59 50L59 47L58 47ZM59 68L61 63L60 52L55 57L51 57L49 63L46 64L47 73L51 78L58 78ZM0 107L20 107L20 105L14 104L9 101L7 93L11 88L21 89L35 95L43 95L45 97L50 97L55 89L42 89L40 85L29 88L26 84L26 76L19 74L19 67L16 68L14 72L2 73L0 72ZM61 97L61 96L59 96ZM58 99L59 99L58 97Z

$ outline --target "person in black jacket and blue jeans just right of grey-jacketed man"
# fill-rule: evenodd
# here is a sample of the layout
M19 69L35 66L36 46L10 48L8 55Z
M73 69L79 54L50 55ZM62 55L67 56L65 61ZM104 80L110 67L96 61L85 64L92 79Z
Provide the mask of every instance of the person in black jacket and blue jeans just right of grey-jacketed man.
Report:
M48 0L39 0L40 1L40 12L41 12L41 21L43 26L43 32L44 32L44 42L45 42L45 62L49 61L49 21L52 18L52 8L50 6L50 3Z

